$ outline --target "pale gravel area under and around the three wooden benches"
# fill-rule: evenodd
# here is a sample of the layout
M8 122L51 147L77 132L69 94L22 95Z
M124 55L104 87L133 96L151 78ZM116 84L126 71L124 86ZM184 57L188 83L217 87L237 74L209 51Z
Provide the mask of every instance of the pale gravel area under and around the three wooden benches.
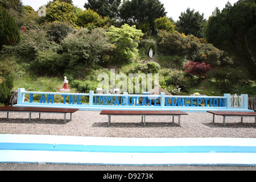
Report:
M64 124L63 114L32 113L32 123L28 122L28 113L0 113L0 134L67 135L82 137L125 137L125 138L256 138L254 118L227 117L226 126L222 126L223 117L216 116L212 123L210 113L188 113L181 115L172 123L172 117L146 117L143 127L141 117L112 117L108 127L108 116L100 111L77 111ZM170 122L167 122L170 121Z

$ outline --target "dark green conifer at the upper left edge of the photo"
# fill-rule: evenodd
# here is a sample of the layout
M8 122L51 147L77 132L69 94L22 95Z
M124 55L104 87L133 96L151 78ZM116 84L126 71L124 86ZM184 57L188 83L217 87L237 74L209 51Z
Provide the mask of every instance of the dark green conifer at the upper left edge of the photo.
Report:
M13 16L0 6L0 50L3 45L13 46L20 41L20 30Z

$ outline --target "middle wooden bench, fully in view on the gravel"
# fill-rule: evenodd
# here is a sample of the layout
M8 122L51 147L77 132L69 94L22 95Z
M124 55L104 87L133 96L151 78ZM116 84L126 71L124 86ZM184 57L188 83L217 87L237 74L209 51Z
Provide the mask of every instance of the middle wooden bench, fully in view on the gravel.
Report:
M146 115L168 115L172 116L172 122L174 122L174 116L179 116L179 126L180 126L180 115L188 115L183 111L158 111L158 110L102 110L100 114L107 114L108 115L108 126L110 126L110 117L114 115L135 115L141 116L142 122L144 117L144 125L146 125Z

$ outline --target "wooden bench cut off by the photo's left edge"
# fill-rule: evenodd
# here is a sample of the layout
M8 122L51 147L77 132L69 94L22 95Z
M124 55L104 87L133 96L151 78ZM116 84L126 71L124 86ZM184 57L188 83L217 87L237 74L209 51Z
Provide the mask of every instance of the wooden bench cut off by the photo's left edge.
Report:
M7 118L9 118L10 112L29 113L29 121L31 122L31 113L39 113L39 119L41 113L57 113L64 114L64 123L66 123L66 114L70 113L70 119L72 113L75 113L79 109L66 109L66 108L52 108L52 107L11 107L1 106L0 112L7 112Z

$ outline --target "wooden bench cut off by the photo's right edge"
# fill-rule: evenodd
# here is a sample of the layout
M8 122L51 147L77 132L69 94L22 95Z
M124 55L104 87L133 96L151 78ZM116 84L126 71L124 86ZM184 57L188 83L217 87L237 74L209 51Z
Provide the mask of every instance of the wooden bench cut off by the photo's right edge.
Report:
M213 123L215 121L215 115L222 115L223 126L225 126L226 117L241 117L241 122L243 122L243 117L255 117L255 126L256 126L256 113L254 112L237 112L237 111L207 111L208 113L213 114Z

